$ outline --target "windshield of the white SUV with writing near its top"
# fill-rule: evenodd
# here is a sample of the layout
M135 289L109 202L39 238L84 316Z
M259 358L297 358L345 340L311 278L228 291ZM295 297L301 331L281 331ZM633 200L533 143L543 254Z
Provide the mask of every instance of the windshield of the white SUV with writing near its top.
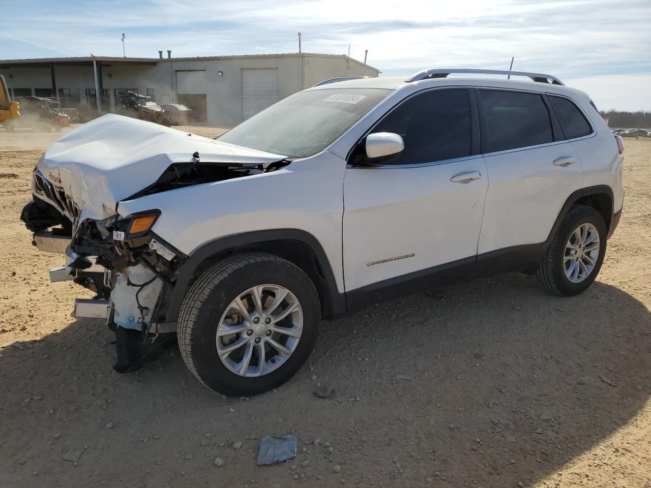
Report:
M298 92L217 139L288 157L312 156L339 139L391 91L341 88Z

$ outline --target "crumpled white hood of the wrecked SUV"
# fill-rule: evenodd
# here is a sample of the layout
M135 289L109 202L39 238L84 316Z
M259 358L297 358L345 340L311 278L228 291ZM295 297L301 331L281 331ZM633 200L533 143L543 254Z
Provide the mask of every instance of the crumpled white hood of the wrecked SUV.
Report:
M115 215L117 202L158 180L173 163L256 166L285 156L243 148L122 115L104 115L49 146L37 169L81 210L79 221Z

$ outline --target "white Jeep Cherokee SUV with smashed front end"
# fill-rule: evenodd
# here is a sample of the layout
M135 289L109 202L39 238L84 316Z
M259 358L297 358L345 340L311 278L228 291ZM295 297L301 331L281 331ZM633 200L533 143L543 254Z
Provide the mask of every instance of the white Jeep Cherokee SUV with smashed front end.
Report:
M118 372L178 337L204 385L248 396L301 368L322 318L369 303L514 270L581 293L623 150L551 75L335 80L216 140L100 117L38 161L21 218L66 254L52 280L96 292L76 315L117 332Z

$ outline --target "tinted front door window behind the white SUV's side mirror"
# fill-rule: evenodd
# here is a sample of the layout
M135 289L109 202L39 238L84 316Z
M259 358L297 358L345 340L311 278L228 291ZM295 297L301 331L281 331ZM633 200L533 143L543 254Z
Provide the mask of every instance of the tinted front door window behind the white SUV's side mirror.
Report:
M373 132L402 136L404 150L383 164L413 165L471 154L471 112L468 90L432 90L396 107Z

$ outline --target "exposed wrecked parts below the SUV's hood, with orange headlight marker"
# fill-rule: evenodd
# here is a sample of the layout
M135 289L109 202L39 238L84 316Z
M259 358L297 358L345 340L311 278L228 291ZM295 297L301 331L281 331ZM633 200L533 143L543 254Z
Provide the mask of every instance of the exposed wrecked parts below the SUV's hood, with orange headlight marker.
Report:
M79 211L57 184L38 171L34 178L35 195L21 220L34 232L32 243L40 251L66 256L66 265L49 271L50 280L73 280L95 293L92 299L76 299L73 315L105 319L117 334L115 370L137 368L174 339L175 323L164 321L165 311L187 256L151 232L158 210L79 223Z

